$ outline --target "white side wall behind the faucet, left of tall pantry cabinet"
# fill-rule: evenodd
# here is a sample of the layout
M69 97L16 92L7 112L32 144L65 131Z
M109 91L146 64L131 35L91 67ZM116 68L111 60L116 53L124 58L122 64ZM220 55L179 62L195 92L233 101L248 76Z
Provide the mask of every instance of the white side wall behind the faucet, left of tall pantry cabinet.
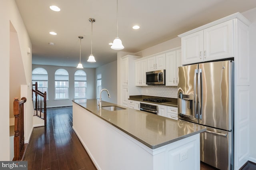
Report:
M95 77L102 75L102 89L108 89L110 98L106 91L102 92L102 100L117 104L117 60L96 68ZM95 80L97 89L97 79Z

